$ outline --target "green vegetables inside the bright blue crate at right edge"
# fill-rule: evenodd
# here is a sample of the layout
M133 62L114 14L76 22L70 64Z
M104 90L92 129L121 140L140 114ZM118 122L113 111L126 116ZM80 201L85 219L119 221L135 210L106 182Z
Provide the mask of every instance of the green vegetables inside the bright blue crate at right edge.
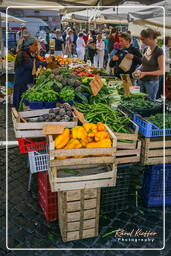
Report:
M164 129L164 119L163 119L163 114L156 114L150 117L147 117L145 120L147 120L150 123L155 124L157 127L160 129ZM165 128L166 129L171 129L171 114L166 113L165 114Z

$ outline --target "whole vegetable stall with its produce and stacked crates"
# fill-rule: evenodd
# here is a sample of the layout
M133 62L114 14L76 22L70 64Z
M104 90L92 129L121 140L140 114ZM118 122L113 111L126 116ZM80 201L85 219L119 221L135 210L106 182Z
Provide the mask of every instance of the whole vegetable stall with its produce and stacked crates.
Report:
M145 94L131 93L131 88L78 58L53 57L51 68L38 70L19 111L12 110L20 152L29 156L29 189L32 174L38 172L39 205L47 221L58 218L65 242L98 235L100 207L106 207L108 197L116 200L117 170L123 179L125 175L122 165L163 162L163 106ZM171 122L167 116L169 170ZM45 203L44 186L51 188L52 212ZM149 206L161 205L157 192L157 199L147 196L148 186L142 189L144 200Z

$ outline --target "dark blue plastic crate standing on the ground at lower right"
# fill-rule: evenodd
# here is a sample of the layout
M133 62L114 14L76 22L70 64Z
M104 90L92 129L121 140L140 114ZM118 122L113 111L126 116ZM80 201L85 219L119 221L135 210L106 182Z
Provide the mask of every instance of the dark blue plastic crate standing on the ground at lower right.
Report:
M163 205L162 164L147 167L140 194L148 207ZM171 164L165 165L165 204L171 205Z

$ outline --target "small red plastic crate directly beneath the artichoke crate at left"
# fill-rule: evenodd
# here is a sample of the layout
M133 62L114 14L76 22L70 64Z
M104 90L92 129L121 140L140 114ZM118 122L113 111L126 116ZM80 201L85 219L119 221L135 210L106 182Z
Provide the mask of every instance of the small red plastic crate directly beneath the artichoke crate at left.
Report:
M19 138L18 145L20 153L28 153L32 151L42 150L46 148L46 139L45 138Z

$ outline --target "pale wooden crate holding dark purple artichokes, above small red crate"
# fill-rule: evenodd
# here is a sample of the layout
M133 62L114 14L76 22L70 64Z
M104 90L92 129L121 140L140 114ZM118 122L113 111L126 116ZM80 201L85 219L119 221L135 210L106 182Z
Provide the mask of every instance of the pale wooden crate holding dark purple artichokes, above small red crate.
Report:
M46 135L42 133L45 124L60 124L67 128L72 128L77 125L78 120L74 112L74 120L71 122L22 122L22 118L34 118L48 113L49 109L17 112L16 109L12 108L12 120L16 138L45 137Z

